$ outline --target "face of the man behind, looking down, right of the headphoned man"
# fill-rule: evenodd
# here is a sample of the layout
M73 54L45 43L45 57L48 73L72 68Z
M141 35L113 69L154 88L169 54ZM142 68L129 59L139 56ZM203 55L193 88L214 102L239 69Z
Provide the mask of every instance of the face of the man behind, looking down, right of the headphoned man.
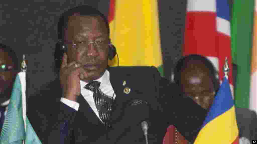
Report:
M209 70L200 61L191 60L181 72L181 89L204 109L212 105L215 91Z

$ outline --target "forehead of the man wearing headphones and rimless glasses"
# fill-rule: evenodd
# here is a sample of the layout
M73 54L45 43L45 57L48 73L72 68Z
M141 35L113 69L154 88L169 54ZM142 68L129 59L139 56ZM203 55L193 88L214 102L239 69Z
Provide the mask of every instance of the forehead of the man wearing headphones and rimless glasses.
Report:
M69 17L66 37L68 39L108 37L107 27L100 16L73 15Z

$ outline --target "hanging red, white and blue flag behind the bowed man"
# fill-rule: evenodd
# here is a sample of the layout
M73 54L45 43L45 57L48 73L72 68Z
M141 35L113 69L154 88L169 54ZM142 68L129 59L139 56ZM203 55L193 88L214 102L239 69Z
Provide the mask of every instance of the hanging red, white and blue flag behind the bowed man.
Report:
M188 0L183 55L206 56L222 80L225 57L232 69L230 8L227 0ZM232 70L229 83L233 95Z

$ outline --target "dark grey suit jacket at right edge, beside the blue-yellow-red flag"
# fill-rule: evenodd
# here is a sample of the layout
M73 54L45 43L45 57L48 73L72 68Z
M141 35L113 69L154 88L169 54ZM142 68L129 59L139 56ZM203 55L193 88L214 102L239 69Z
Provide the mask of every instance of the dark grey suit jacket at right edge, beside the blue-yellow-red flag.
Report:
M245 137L250 142L257 139L257 116L247 108L235 108L239 138Z

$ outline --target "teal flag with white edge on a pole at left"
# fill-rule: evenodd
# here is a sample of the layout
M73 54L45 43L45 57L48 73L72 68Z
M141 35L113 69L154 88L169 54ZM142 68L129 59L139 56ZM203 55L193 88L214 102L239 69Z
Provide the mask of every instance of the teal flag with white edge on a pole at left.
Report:
M26 73L17 74L8 104L0 144L41 144L26 116Z

